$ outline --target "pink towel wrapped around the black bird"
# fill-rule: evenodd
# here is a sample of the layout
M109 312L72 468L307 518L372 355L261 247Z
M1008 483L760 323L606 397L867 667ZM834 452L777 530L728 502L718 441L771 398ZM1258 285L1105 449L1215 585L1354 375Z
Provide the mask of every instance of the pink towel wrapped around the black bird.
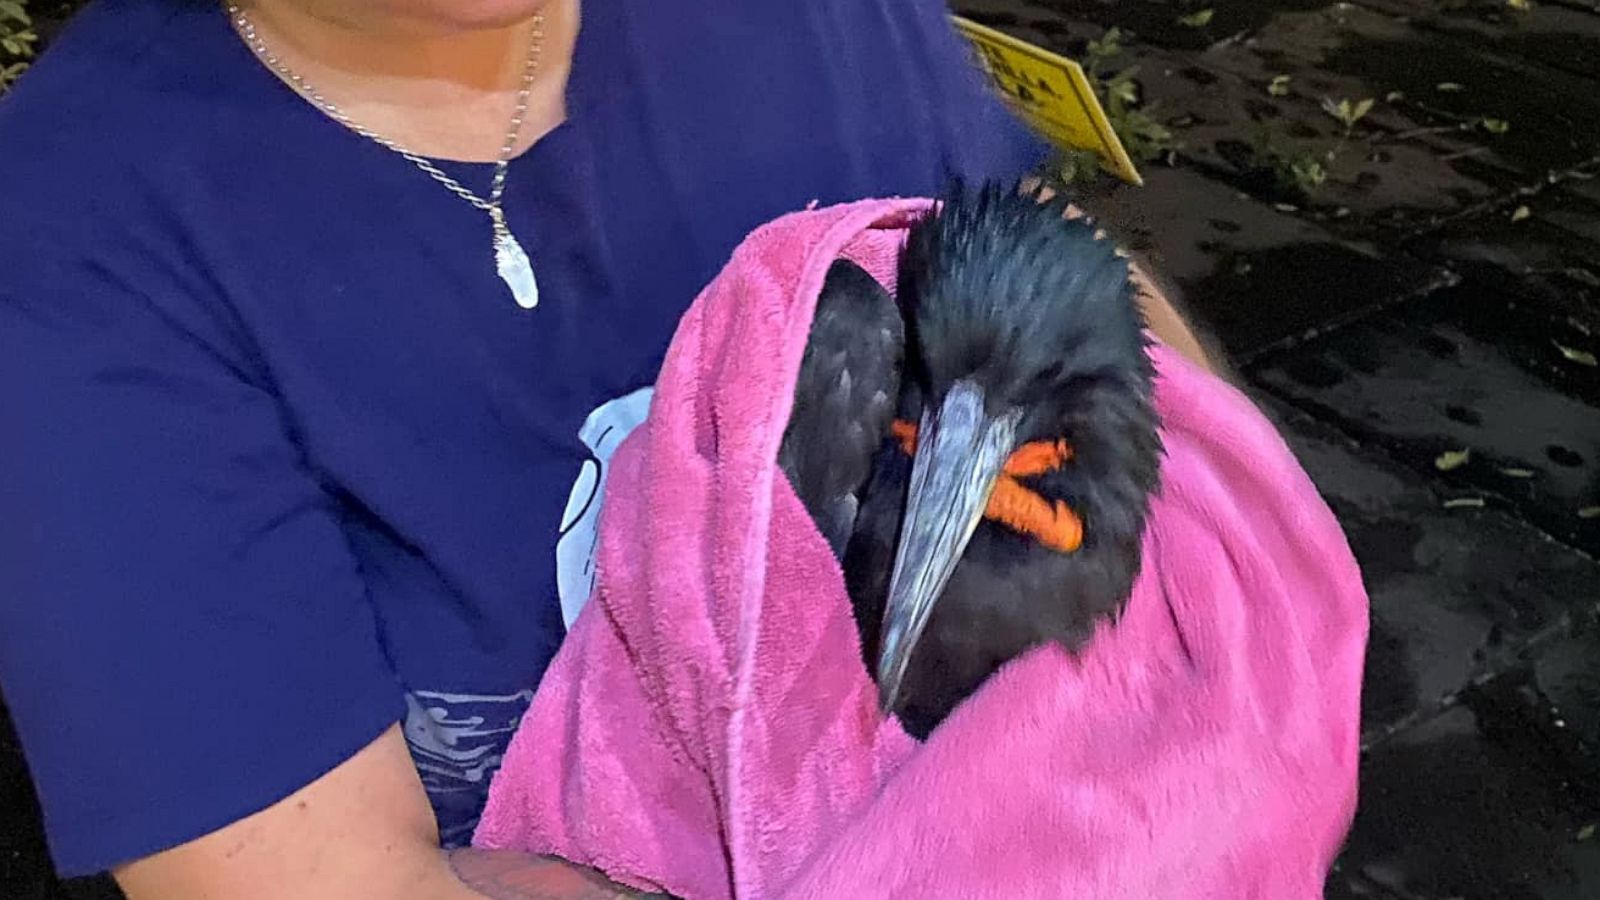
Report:
M774 460L829 264L893 285L926 208L782 218L690 309L478 846L686 898L1320 897L1355 809L1366 596L1272 426L1171 351L1123 620L1014 660L925 745L880 719Z

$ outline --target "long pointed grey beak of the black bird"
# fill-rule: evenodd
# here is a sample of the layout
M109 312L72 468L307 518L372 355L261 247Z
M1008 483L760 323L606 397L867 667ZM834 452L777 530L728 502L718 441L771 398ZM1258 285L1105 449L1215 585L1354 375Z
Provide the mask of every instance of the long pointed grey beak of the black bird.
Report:
M878 655L878 705L899 700L912 650L989 504L1016 437L1016 416L984 412L982 389L958 381L923 410Z

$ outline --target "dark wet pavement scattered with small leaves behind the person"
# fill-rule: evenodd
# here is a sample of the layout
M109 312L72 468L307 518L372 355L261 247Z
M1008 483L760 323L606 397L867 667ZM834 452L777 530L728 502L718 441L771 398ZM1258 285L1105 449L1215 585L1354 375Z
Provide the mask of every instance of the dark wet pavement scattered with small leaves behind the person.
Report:
M1139 66L1171 141L1085 203L1216 333L1363 565L1328 897L1600 897L1600 0L957 6L1074 58L1123 32L1102 69ZM0 897L112 895L40 860L0 828Z

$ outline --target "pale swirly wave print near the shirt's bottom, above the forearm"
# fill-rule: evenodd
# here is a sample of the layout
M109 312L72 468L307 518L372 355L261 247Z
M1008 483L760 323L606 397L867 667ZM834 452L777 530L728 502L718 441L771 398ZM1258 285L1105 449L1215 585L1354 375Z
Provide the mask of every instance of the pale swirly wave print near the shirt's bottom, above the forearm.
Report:
M472 841L490 777L531 701L531 689L502 695L406 692L405 740L445 847Z

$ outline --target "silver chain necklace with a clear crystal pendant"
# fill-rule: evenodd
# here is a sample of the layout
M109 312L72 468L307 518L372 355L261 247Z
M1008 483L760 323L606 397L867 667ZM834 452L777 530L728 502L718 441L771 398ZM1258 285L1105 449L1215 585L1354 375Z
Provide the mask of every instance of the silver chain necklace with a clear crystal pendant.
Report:
M382 147L400 154L411 165L426 171L434 181L443 184L451 194L461 197L467 203L483 210L490 215L490 223L493 224L494 234L494 269L499 272L506 287L510 288L512 298L517 306L523 309L533 309L539 306L539 282L533 275L533 261L528 258L528 251L522 248L517 235L510 232L510 226L506 224L506 211L501 208L501 197L506 194L506 170L510 167L510 154L517 147L517 138L522 135L522 120L528 114L528 94L533 90L533 77L539 72L539 59L544 54L544 13L533 18L533 43L528 48L528 62L523 66L522 72L522 90L517 91L517 109L510 117L510 128L506 131L506 144L501 146L499 159L494 160L494 183L490 187L490 195L485 200L478 197L467 187L464 187L454 178L445 175L437 165L422 155L418 155L395 141L378 135L376 131L358 125L342 109L333 104L328 98L322 96L317 88L310 86L299 75L290 69L266 42L256 32L254 22L250 16L238 6L238 3L227 5L227 14L234 19L234 27L243 35L245 43L269 69L278 74L280 78L288 82L301 96L310 101L317 109L323 110L328 119L333 119L339 125L344 125L350 131L373 141Z

